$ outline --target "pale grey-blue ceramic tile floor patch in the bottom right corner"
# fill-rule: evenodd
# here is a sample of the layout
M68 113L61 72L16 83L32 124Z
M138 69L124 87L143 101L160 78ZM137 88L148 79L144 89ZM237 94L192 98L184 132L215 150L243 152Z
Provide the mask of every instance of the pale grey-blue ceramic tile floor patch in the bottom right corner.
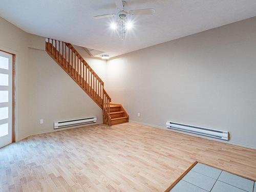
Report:
M254 181L197 163L171 192L256 192Z

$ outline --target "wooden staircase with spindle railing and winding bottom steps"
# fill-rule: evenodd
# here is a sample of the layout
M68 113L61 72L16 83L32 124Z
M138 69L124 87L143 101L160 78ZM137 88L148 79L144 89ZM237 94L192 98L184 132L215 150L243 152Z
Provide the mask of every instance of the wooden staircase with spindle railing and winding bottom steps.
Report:
M69 43L46 39L46 52L102 109L103 123L115 125L129 122L129 115L121 104L111 103L104 82Z

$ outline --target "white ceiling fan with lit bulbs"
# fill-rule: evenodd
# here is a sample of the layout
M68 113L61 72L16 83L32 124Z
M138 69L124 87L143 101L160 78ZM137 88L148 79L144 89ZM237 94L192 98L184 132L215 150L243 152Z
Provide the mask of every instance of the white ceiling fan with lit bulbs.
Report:
M104 14L104 15L95 15L93 18L100 19L100 18L106 18L106 17L119 17L119 37L121 40L124 39L126 29L129 26L129 23L127 22L127 15L152 15L155 13L155 9L135 9L126 11L124 10L124 6L126 5L125 1L122 0L115 0L116 7L118 9L117 13L111 13L111 14Z

